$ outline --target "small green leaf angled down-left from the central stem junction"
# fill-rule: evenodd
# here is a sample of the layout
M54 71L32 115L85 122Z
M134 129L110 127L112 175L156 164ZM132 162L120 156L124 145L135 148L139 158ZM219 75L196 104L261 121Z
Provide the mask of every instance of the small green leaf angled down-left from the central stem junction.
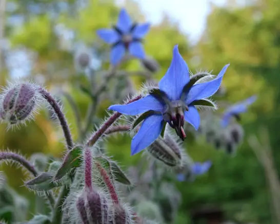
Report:
M81 166L81 163L83 162L82 153L83 148L81 146L76 146L70 150L66 154L61 167L54 175L54 180L60 180L63 176L70 172L72 168Z

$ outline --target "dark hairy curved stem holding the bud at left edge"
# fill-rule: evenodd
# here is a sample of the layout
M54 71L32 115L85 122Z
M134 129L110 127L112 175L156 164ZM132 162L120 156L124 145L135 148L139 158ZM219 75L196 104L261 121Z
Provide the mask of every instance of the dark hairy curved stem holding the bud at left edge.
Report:
M39 93L48 101L48 103L53 108L59 122L61 123L62 130L64 132L64 137L67 143L68 150L71 150L73 148L73 140L71 136L71 132L69 129L69 125L66 121L66 118L61 110L61 107L58 105L56 100L51 96L49 92L47 92L43 88L39 88Z

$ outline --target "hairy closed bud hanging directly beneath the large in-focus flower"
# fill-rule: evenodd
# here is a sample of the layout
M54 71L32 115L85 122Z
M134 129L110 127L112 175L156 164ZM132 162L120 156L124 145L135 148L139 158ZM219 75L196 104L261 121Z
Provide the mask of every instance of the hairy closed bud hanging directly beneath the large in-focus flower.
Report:
M162 161L168 166L175 167L182 163L181 149L168 135L165 135L164 139L158 138L147 148L147 151L155 159Z

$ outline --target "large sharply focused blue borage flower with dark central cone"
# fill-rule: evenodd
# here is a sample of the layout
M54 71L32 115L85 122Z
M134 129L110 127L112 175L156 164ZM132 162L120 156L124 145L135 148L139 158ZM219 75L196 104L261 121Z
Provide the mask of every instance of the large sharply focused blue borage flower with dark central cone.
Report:
M197 74L190 78L187 63L184 61L176 45L173 58L165 76L159 81L159 88L153 88L149 95L126 105L112 105L125 115L141 115L135 122L143 121L141 128L132 139L131 154L135 154L150 146L161 134L166 123L175 129L177 135L184 140L184 120L196 130L200 118L195 106L212 106L215 104L205 99L212 96L221 85L229 64L224 66L218 76L208 82L195 84L205 74Z

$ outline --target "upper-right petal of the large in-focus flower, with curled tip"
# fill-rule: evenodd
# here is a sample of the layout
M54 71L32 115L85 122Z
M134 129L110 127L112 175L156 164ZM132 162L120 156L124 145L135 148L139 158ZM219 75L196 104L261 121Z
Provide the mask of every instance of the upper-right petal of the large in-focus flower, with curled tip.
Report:
M185 102L187 105L192 103L194 100L201 100L212 96L217 92L219 86L222 83L223 76L228 68L229 64L224 66L224 68L219 72L217 77L209 82L199 83L193 85L186 96Z

